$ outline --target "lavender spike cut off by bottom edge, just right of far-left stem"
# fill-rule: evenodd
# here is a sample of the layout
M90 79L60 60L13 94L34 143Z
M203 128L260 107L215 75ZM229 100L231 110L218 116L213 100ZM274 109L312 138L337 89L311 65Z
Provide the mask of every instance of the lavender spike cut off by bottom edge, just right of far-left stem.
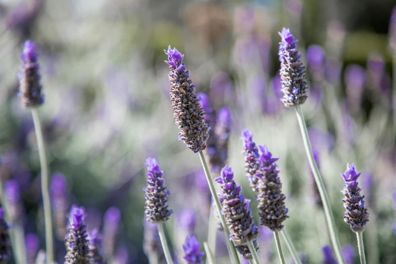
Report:
M86 225L84 224L85 209L73 205L69 213L69 223L66 234L65 264L89 264L89 244L87 240Z

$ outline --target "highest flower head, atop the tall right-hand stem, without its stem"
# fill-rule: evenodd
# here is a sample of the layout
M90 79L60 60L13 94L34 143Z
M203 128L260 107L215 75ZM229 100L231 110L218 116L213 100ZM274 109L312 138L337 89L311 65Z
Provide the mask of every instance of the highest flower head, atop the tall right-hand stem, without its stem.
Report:
M286 107L301 105L308 97L306 86L305 66L301 62L301 54L297 51L297 40L289 29L283 28L279 32L279 61L281 62L281 82L284 94L281 101Z

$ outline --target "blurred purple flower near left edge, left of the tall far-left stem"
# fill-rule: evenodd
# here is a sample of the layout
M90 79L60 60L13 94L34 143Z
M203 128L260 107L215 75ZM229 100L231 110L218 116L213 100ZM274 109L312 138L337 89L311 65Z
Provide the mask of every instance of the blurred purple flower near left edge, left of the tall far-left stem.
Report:
M4 195L8 204L11 221L14 223L22 217L21 193L19 184L15 180L10 180L4 186Z

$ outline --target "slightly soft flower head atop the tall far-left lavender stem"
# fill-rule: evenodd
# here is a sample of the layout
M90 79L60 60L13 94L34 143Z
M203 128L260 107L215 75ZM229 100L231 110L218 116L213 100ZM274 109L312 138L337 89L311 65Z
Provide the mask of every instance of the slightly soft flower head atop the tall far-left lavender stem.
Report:
M22 67L19 73L19 98L22 107L36 107L44 103L44 95L41 93L40 73L37 62L38 54L33 41L27 40L20 56Z

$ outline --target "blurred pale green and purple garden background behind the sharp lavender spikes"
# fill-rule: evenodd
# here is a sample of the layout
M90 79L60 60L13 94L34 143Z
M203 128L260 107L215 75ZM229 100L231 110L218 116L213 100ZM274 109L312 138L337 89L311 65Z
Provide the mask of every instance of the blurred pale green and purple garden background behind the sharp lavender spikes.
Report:
M343 222L340 172L347 162L363 171L368 263L396 263L396 126L388 45L395 5L394 0L1 0L0 175L20 191L23 233L34 240L26 241L29 254L45 248L34 128L17 98L18 56L30 38L40 53L46 103L39 113L50 170L67 181L67 188L55 193L64 191L66 211L72 204L86 208L89 229L109 233L104 242L113 263L148 263L145 251L156 250L158 242L150 238L155 232L144 221L142 191L150 156L158 159L171 193L175 213L166 230L175 257L189 232L201 243L207 239L210 193L198 155L178 141L164 63L168 45L185 54L197 91L207 93L214 109L232 111L228 164L252 199L256 222L257 202L241 154L245 127L257 144L280 157L290 212L285 226L297 250L306 263L325 261L322 247L330 241L323 209L315 202L294 110L279 101L278 31L287 27L299 39L307 65L311 91L302 109L349 263L359 260L355 234ZM354 64L361 68L348 74L345 69ZM119 222L114 207L121 212ZM57 233L57 259L63 263L61 226ZM261 233L262 263L278 263L272 237ZM229 263L221 232L216 248L217 263ZM292 263L285 245L284 251Z

